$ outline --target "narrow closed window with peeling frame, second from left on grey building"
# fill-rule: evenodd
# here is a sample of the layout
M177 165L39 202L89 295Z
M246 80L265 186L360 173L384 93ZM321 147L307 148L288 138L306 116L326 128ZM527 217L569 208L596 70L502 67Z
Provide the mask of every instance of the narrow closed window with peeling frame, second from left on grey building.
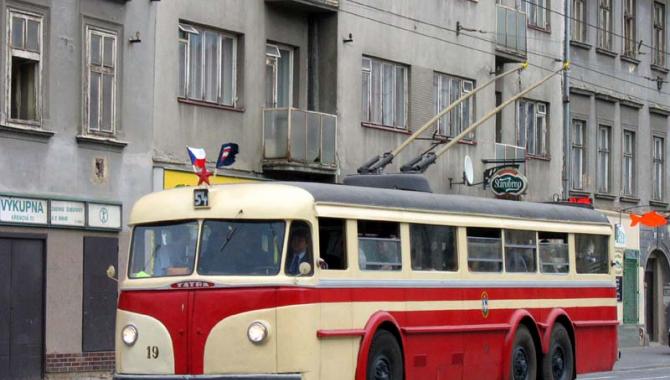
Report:
M116 34L86 27L86 125L113 134L116 113Z

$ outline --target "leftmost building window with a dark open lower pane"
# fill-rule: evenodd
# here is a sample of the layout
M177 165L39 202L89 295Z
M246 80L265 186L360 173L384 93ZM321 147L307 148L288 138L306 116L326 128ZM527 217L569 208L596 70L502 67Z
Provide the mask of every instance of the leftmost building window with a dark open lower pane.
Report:
M11 121L39 125L42 102L42 17L9 11L9 101Z

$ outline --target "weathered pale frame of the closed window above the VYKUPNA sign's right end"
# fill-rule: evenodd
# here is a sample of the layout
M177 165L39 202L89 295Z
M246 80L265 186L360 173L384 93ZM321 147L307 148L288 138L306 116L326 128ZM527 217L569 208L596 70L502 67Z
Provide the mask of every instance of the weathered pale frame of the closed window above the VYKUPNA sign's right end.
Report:
M117 132L117 117L116 117L116 112L117 112L117 93L118 93L118 67L119 67L119 54L118 54L118 33L116 31L110 30L110 29L105 29L101 28L95 25L86 25L85 28L85 33L86 33L86 56L85 56L85 84L84 84L84 133L87 134L100 134L100 135L105 135L105 136L114 136L116 135ZM100 62L99 65L94 65L91 62L91 38L93 34L96 34L100 36L100 49L102 51L102 54L100 55L102 61ZM112 38L113 39L113 45L112 45L112 62L114 64L114 67L109 68L108 66L105 66L104 64L104 39L105 38ZM95 66L95 70L94 70ZM100 82L104 83L104 80L102 79L105 74L109 75L112 74L112 95L111 95L111 130L110 131L104 131L102 130L102 115L103 115L103 107L101 105L104 105L103 102L103 87L102 85L98 84L98 127L97 129L91 129L91 119L90 119L90 113L91 113L91 72L96 72L100 74Z

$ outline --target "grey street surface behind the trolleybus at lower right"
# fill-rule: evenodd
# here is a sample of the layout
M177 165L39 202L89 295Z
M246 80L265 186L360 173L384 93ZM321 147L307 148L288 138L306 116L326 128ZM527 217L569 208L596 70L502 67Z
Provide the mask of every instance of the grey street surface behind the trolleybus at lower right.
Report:
M622 348L614 371L577 376L580 380L670 380L670 347Z

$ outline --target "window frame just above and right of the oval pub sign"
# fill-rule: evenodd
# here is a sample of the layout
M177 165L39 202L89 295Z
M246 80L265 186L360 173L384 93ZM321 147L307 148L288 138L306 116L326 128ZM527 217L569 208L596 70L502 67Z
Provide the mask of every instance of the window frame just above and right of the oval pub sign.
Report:
M532 126L533 126L533 141L534 144L537 145L538 142L540 142L540 149L538 152L538 147L535 146L534 150L531 151L529 149L529 141L530 138L528 137L528 108L529 105L533 105L533 115L532 115ZM524 144L521 144L521 112L520 109L521 107L524 107L524 112L523 114L526 116L526 119L524 120L524 125L523 125L523 133L524 133ZM543 108L543 111L540 111L540 108ZM549 103L544 102L544 101L539 101L539 100L532 100L532 99L520 99L517 101L516 105L516 145L520 147L524 147L526 149L526 155L529 157L536 157L536 158L545 158L548 159L550 156L549 153L549 131L548 131L548 125L549 125ZM538 120L542 120L542 126L541 128L538 128L537 122ZM539 134L539 135L538 135ZM538 140L538 138L540 138Z

